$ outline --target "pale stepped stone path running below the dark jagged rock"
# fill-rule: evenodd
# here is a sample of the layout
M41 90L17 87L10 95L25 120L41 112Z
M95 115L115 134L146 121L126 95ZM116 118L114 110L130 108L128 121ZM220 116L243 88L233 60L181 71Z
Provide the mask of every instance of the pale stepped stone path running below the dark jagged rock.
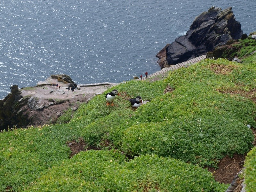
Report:
M187 60L187 61L179 63L177 65L171 65L170 67L162 68L160 71L156 71L155 73L148 75L148 78L153 77L153 76L157 76L157 75L160 75L160 74L164 74L167 71L171 71L171 70L173 71L173 70L181 68L181 67L188 67L188 66L190 66L192 64L195 64L198 61L203 60L205 58L206 58L206 55L201 55L199 57L193 58L191 60ZM140 80L140 78L136 79L136 80ZM146 76L142 77L142 80L146 80Z

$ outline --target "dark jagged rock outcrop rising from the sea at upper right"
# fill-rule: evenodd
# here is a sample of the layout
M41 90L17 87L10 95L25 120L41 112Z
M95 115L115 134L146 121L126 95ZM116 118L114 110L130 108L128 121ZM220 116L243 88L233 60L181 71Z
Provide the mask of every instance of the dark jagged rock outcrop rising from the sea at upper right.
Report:
M225 10L212 7L195 18L186 35L178 37L156 55L158 64L164 68L190 60L242 35L241 24L236 21L232 7Z

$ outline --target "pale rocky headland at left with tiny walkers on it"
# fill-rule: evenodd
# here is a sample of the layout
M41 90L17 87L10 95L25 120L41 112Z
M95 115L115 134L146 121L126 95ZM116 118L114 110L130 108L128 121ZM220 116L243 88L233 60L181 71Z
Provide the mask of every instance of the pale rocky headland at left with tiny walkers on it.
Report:
M0 100L0 131L14 126L55 124L60 116L70 119L81 103L114 85L108 82L76 85L67 75L51 75L34 87L19 89L13 85L11 93Z

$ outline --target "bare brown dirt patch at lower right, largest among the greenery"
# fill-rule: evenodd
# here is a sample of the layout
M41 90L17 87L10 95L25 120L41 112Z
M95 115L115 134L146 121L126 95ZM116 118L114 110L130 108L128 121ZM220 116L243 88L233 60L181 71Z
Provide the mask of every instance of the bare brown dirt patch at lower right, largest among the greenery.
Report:
M218 164L219 169L215 170L213 167L208 167L208 171L213 173L216 181L229 184L243 169L244 160L245 155L242 154L234 154L233 157L225 156Z

